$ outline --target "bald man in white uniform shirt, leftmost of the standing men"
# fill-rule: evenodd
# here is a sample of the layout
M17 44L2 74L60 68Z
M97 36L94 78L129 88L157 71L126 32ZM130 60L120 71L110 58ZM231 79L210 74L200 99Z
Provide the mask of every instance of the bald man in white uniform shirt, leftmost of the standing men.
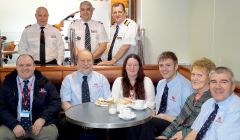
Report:
M45 7L38 7L36 10L37 23L27 26L19 42L19 53L33 56L37 65L62 65L64 59L64 43L60 31L48 24L48 10ZM41 29L42 28L42 29ZM44 34L45 57L40 60L40 36Z

